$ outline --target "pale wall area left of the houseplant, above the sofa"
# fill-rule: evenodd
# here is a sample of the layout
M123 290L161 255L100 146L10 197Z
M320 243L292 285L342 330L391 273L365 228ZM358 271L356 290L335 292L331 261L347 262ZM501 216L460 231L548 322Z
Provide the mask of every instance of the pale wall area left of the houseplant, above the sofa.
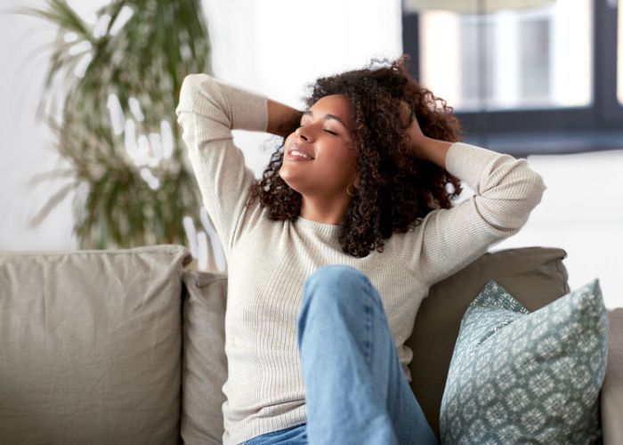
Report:
M105 3L69 1L91 22L93 12ZM53 193L67 183L54 180L29 184L36 174L67 166L53 148L52 132L35 117L49 65L49 44L56 31L44 20L7 12L44 5L43 0L3 0L0 6L0 251L77 247L72 234L73 194L41 225L28 225Z

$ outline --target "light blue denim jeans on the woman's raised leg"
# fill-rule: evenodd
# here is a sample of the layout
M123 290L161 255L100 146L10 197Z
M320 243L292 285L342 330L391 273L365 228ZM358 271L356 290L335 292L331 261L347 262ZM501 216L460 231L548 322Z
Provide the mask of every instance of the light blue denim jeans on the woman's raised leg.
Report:
M245 445L437 444L368 277L329 265L305 282L297 319L307 423Z

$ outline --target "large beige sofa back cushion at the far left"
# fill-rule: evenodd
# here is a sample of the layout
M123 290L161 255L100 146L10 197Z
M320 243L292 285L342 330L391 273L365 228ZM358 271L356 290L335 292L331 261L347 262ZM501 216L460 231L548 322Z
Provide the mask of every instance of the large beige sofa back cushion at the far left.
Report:
M179 441L182 246L0 254L0 443Z

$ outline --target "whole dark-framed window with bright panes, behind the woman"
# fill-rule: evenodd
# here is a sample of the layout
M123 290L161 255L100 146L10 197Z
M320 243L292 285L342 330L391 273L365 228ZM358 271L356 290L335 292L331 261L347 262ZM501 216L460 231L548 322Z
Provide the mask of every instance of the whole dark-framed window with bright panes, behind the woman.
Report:
M403 0L403 52L455 108L466 142L515 156L623 148L623 0L409 9L423 3Z

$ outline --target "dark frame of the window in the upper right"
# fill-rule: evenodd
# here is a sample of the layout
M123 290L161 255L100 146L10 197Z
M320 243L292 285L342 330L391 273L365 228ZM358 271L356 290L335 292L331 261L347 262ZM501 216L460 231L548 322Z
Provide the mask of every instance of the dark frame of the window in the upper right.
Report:
M591 3L592 103L586 107L457 111L465 142L518 157L623 149L623 105L617 98L619 6L616 0ZM420 72L419 28L417 12L406 12L403 6L403 53L409 54L409 73L416 79Z

